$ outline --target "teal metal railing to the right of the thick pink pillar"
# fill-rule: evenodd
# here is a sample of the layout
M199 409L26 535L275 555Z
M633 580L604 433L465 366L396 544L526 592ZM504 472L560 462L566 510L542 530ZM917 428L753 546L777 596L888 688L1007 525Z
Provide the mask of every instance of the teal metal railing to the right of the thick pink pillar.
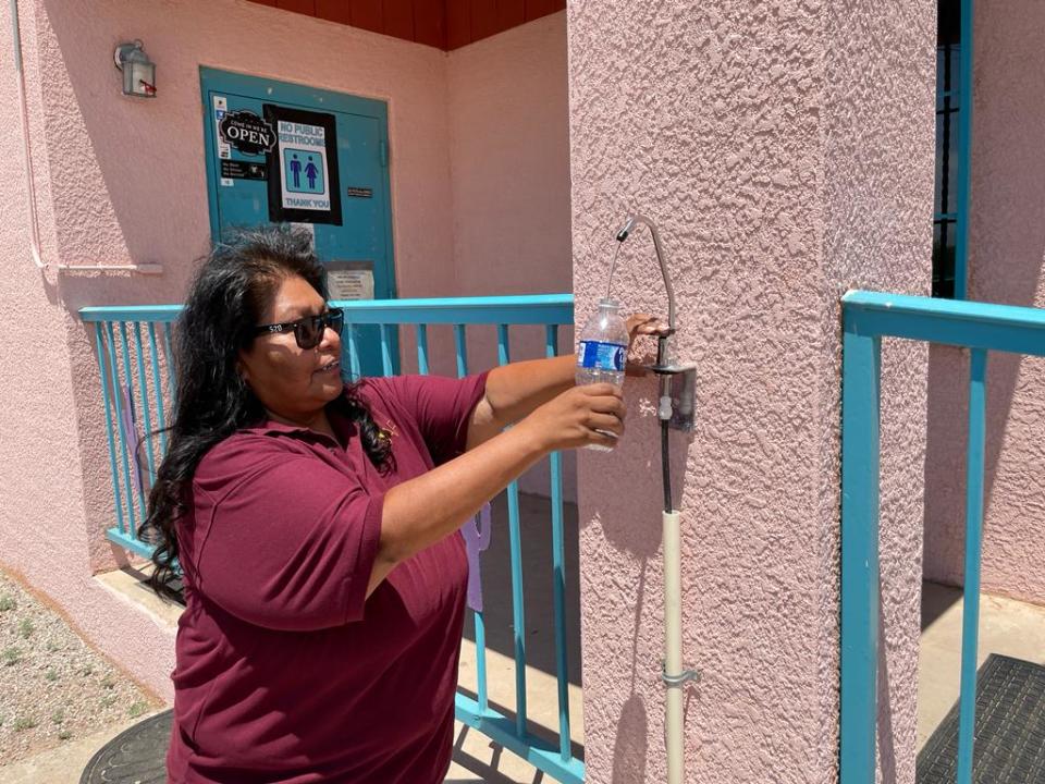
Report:
M883 338L970 350L957 784L971 784L986 370L992 351L1045 356L1045 310L849 292L843 297L840 784L874 784L878 663L878 414Z

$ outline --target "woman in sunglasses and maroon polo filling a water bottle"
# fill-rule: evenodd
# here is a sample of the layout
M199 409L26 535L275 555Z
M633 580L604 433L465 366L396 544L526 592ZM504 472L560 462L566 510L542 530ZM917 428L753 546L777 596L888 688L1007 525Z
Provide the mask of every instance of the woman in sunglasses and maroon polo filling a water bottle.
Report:
M186 299L147 520L152 587L180 568L186 604L175 784L441 782L459 526L550 452L623 432L619 390L575 388L571 357L345 385L342 323L308 238L283 230L217 247Z

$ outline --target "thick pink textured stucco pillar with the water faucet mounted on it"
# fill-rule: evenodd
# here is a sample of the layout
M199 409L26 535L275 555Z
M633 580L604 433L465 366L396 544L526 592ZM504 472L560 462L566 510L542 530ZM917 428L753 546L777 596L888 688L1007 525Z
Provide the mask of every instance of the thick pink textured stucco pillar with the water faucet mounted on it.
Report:
M838 297L929 290L935 3L575 3L568 37L578 321L641 209L698 366L698 426L672 448L685 660L703 671L686 781L835 781ZM614 289L663 309L644 232ZM885 781L914 772L925 356L883 360ZM578 466L598 784L665 776L654 387L629 387L624 443Z

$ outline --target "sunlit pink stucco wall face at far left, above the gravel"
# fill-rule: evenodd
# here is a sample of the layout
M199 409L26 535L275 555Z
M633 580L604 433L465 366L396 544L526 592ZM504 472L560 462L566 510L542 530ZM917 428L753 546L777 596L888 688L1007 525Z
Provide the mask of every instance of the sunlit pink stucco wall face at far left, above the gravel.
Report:
M34 35L33 3L23 5L25 69L38 84L38 52L48 47ZM112 602L91 580L97 546L85 519L90 499L90 461L84 464L85 443L78 439L81 414L74 400L82 379L79 357L70 334L78 329L62 302L53 278L33 267L25 213L25 182L21 176L22 147L17 98L13 78L10 27L4 25L0 50L0 106L9 119L0 132L0 152L12 174L0 197L0 318L9 324L32 324L30 334L4 341L0 347L3 405L0 406L0 564L24 576L57 600L88 639L160 694L165 693L172 636L127 607ZM53 78L53 70L49 78ZM29 91L34 127L41 119L39 90ZM35 150L38 168L51 163L48 150ZM54 215L47 182L38 186L45 253L53 258ZM84 350L86 358L89 351ZM100 436L100 430L96 431ZM86 444L97 449L100 442ZM104 503L102 501L102 503ZM112 560L112 556L110 556Z

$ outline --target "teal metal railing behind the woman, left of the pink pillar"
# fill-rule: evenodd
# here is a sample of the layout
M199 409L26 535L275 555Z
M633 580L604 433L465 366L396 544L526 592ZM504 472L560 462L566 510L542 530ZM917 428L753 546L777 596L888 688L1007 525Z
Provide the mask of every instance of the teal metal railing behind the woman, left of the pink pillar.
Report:
M377 324L381 343L383 375L395 367L395 332L413 328L417 342L417 364L429 372L428 328L452 327L458 376L468 372L467 327L487 326L496 330L497 360L511 362L509 329L518 324L544 328L544 354L557 353L558 328L573 324L573 296L568 294L465 297L451 299L391 299L332 303L345 309L344 353L353 377L360 373L358 328ZM115 525L107 537L122 548L148 556L151 547L138 537L145 519L150 479L167 449L163 428L170 421L171 401L176 395L170 371L172 327L180 305L86 307L79 315L94 326L95 346L101 376L104 427L109 443L109 468L115 506ZM372 329L372 327L371 327ZM159 430L156 438L143 438ZM508 538L512 572L513 642L515 654L515 719L490 703L487 688L485 622L481 612L472 613L476 633L476 698L458 691L456 715L459 721L489 736L528 760L555 781L580 784L583 763L573 754L569 725L569 697L566 639L566 583L563 530L563 470L560 454L552 454L551 529L553 567L553 624L558 696L558 743L550 744L530 732L526 706L526 623L522 597L521 531L519 490L516 482L507 489Z

